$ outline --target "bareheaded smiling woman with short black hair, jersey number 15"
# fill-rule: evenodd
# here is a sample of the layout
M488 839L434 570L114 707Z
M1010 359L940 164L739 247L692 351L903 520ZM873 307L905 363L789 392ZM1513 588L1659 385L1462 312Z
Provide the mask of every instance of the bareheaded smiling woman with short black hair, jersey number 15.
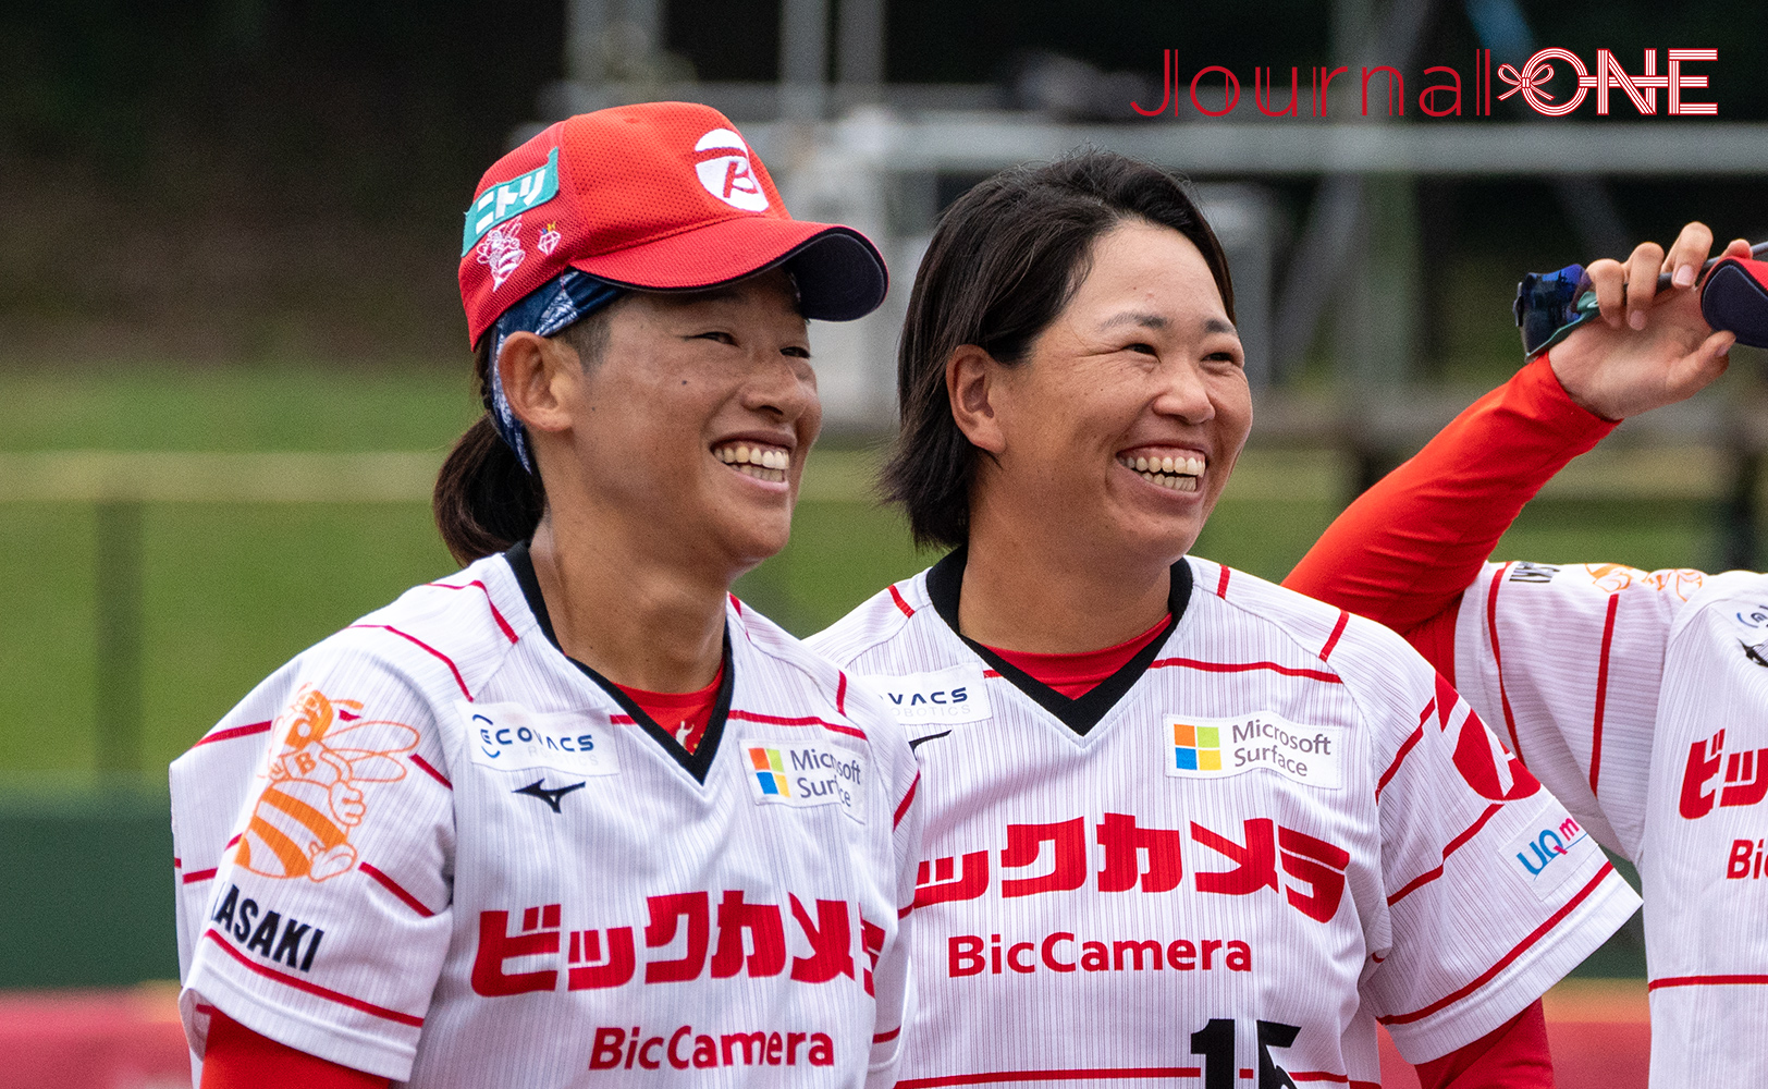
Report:
M926 771L898 1085L1374 1085L1377 1020L1427 1085L1551 1084L1536 999L1637 898L1517 854L1565 810L1398 636L1186 555L1252 396L1183 184L974 187L898 391L886 488L951 552L812 640Z

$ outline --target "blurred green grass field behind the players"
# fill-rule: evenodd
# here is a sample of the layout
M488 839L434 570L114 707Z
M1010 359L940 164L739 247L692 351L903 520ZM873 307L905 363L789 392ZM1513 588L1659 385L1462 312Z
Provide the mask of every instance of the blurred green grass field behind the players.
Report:
M440 451L474 408L458 375L442 371L4 373L0 453ZM847 454L847 468L863 465ZM1252 449L1197 552L1282 578L1344 493L1345 467L1331 453ZM1694 500L1538 502L1501 553L1703 566L1711 522ZM0 502L0 705L11 720L0 773L78 776L95 765L94 536L90 504ZM292 654L453 569L421 502L149 504L143 552L140 764L150 780ZM803 635L932 559L895 511L806 500L790 546L739 594Z

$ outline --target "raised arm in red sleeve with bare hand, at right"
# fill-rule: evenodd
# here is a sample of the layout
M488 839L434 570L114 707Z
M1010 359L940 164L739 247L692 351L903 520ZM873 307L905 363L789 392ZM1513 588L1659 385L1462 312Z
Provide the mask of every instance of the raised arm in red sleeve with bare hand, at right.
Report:
M1618 421L1724 373L1736 338L1708 329L1690 290L1710 248L1711 232L1690 223L1667 256L1646 242L1625 265L1595 262L1604 320L1475 401L1363 493L1284 585L1395 628L1452 672L1453 606L1522 504ZM1747 256L1749 244L1726 253ZM1664 295L1660 270L1674 274Z

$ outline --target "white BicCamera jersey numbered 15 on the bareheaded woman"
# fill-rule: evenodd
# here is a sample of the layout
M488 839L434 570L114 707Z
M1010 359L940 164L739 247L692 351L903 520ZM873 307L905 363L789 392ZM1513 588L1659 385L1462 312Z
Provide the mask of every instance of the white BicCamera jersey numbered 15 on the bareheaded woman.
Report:
M926 774L902 1087L1372 1087L1376 1022L1455 1050L1639 905L1384 628L1188 559L1177 621L1064 707L956 635L960 583L953 553L810 640Z

